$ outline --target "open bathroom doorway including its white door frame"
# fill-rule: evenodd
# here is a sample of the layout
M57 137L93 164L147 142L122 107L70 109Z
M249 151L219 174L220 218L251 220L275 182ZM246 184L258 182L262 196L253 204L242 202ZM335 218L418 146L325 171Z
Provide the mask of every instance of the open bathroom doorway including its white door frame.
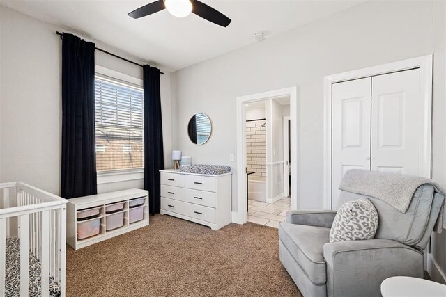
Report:
M297 209L297 88L237 98L238 210L233 222L277 227Z

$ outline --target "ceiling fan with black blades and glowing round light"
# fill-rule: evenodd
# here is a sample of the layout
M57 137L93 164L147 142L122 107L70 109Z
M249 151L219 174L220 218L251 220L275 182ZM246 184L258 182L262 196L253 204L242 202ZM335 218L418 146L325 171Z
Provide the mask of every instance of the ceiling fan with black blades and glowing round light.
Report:
M157 0L133 10L128 15L134 19L139 19L139 17L157 13L164 8L175 17L187 17L190 13L194 13L220 26L226 27L231 23L229 17L198 0Z

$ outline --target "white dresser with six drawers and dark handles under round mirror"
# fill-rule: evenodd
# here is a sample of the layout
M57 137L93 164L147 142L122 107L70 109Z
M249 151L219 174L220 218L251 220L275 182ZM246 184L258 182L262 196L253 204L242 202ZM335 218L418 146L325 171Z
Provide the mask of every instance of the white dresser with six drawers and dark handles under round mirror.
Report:
M161 172L161 214L212 230L231 223L231 173L201 175L167 169Z

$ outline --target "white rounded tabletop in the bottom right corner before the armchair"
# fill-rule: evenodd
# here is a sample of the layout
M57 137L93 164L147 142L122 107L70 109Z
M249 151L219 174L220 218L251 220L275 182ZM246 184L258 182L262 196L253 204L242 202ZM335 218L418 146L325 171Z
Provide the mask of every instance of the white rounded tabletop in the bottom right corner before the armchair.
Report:
M381 283L383 297L446 297L446 285L410 278L408 276L394 276Z

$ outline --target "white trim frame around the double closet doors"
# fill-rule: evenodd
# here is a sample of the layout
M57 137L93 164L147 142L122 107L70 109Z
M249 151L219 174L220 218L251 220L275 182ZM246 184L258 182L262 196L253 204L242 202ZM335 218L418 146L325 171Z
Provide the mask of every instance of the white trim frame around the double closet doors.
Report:
M414 68L420 69L420 96L422 106L422 160L423 177L431 177L431 128L432 128L432 70L433 55L410 58L374 67L362 68L324 77L324 161L323 161L323 205L324 209L334 209L332 205L332 83L374 77L380 74L399 72Z

